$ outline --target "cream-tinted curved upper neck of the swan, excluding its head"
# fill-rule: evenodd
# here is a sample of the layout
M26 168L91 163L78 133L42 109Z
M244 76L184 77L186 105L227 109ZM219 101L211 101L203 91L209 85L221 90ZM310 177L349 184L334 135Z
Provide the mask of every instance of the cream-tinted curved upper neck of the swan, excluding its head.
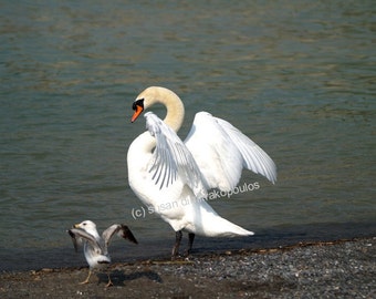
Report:
M178 132L185 114L184 104L180 97L175 92L164 87L157 87L155 91L155 103L160 103L167 109L164 122L175 132Z

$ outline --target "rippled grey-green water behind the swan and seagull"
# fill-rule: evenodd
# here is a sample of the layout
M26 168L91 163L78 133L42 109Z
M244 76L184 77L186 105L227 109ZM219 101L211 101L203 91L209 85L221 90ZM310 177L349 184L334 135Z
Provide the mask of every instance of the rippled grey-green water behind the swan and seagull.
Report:
M373 1L1 2L0 268L82 262L65 230L83 219L130 226L140 244L114 243L123 260L169 251L171 229L134 217L127 184L127 148L145 130L130 106L149 85L184 100L181 137L210 111L278 165L276 185L244 172L239 185L260 188L210 202L255 237L198 238L198 251L375 235L375 12Z

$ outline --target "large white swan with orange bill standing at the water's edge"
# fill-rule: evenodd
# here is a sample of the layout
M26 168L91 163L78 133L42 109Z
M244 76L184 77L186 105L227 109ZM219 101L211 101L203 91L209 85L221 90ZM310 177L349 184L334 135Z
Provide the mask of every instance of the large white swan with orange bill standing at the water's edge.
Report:
M182 142L176 132L184 120L184 104L177 94L165 87L152 86L137 96L132 122L156 103L167 107L167 115L161 121L152 112L145 114L148 131L128 150L128 181L139 199L176 231L173 257L178 255L181 230L189 234L188 254L195 234L208 237L253 235L220 217L205 199L210 188L233 189L243 167L274 183L273 161L230 123L207 112L196 114Z

